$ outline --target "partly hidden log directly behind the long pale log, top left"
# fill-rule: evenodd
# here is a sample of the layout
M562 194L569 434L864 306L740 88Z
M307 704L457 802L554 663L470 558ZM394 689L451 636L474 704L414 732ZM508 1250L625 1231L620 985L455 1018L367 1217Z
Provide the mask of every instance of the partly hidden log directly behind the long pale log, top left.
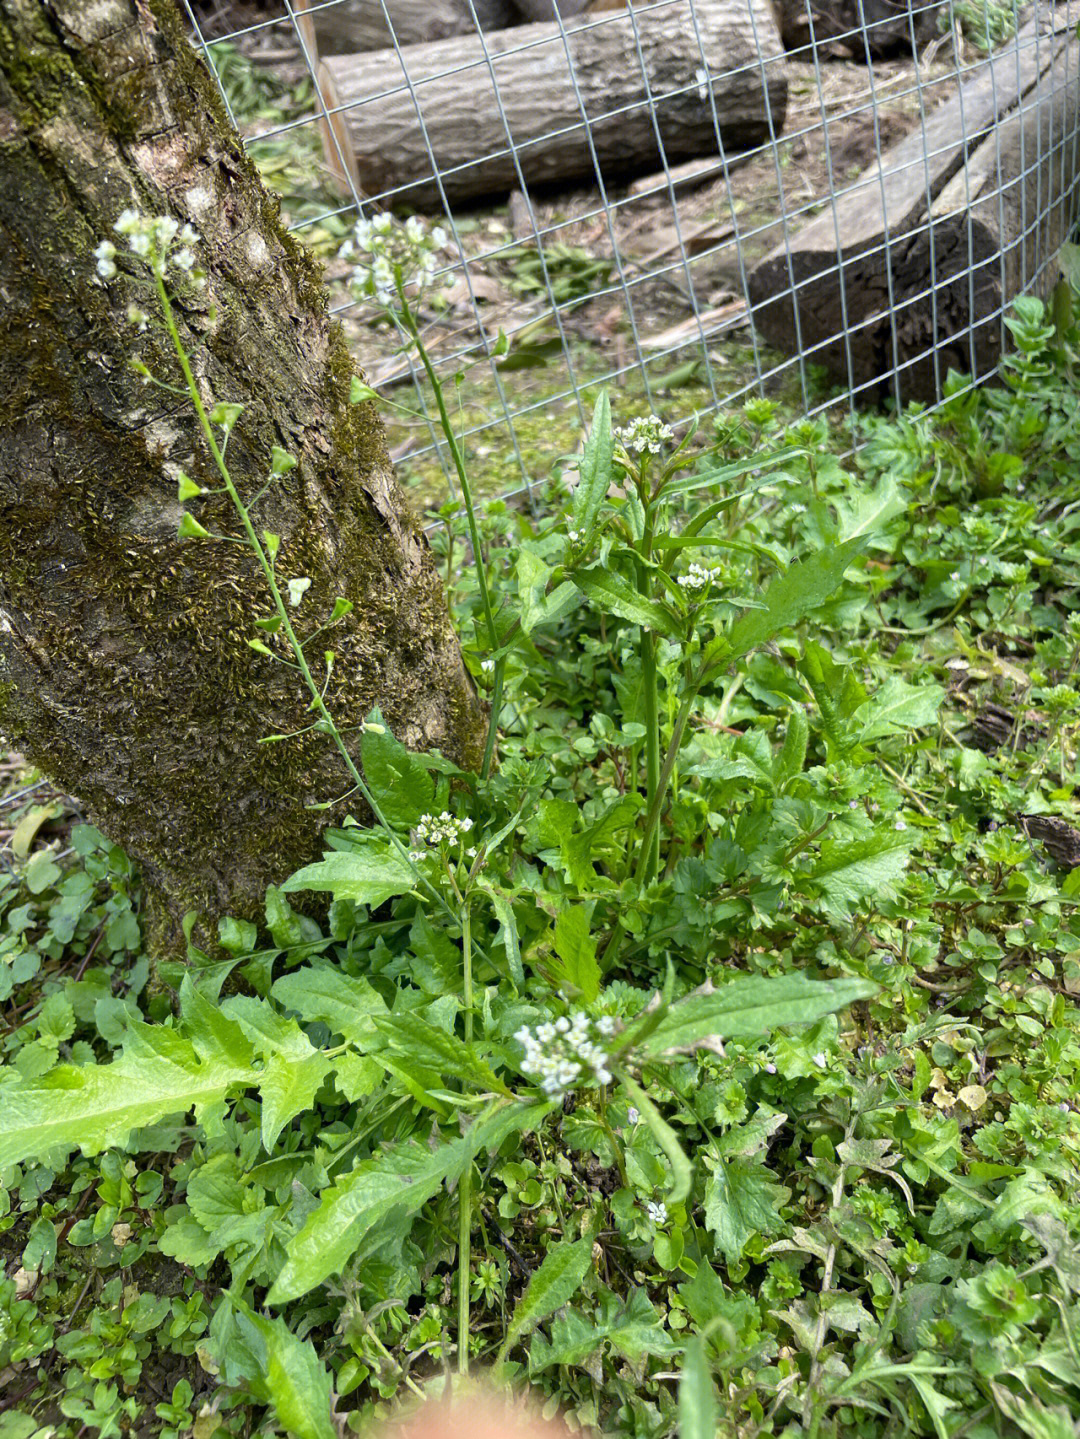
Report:
M316 0L309 0L311 6ZM426 45L450 35L475 35L513 23L511 0L338 0L311 9L315 46L319 55L361 55L398 45ZM298 6L296 9L306 9ZM391 36L387 14L394 26Z

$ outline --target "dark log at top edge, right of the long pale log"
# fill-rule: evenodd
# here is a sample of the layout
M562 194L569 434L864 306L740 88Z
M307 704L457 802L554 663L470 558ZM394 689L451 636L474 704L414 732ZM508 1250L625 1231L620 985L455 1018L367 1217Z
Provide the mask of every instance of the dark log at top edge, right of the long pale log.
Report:
M788 50L804 59L912 53L938 29L938 7L925 0L774 0Z

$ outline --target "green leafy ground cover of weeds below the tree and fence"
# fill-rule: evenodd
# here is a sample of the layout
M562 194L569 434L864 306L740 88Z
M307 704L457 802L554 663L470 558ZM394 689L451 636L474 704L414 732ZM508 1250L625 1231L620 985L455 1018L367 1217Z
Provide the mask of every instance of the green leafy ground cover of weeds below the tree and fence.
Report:
M489 507L490 778L362 737L418 859L339 825L154 970L125 856L23 814L3 1439L331 1439L463 1335L607 1433L1074 1435L1079 337L1012 328L1005 383L854 460L720 417L647 554L601 406L572 495Z

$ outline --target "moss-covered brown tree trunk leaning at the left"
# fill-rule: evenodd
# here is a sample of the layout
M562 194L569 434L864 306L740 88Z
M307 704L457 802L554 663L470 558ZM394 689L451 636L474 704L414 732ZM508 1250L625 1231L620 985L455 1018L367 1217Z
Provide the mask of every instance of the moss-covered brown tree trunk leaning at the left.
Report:
M293 671L255 653L267 596L240 545L177 540L177 475L216 485L134 266L92 250L127 206L191 222L209 285L178 302L206 400L247 407L229 442L244 495L273 445L298 459L255 511L306 576L302 632L337 596L328 699L342 728L378 704L414 748L477 760L482 715L381 423L314 262L283 232L173 0L0 0L0 734L79 796L139 861L171 948L187 909L255 917L319 849L347 787ZM200 501L236 532L224 496ZM316 640L321 653L324 640ZM349 802L357 809L357 800ZM331 819L334 812L331 812Z

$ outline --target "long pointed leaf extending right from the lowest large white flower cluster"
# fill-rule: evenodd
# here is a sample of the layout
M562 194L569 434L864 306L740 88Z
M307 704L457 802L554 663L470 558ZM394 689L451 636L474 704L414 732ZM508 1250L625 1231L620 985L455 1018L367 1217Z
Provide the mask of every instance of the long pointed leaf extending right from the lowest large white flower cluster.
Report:
M656 1055L709 1038L765 1038L781 1025L811 1025L823 1014L833 1014L876 993L876 984L860 979L741 974L719 989L699 990L673 1004L644 1039L641 1050Z

